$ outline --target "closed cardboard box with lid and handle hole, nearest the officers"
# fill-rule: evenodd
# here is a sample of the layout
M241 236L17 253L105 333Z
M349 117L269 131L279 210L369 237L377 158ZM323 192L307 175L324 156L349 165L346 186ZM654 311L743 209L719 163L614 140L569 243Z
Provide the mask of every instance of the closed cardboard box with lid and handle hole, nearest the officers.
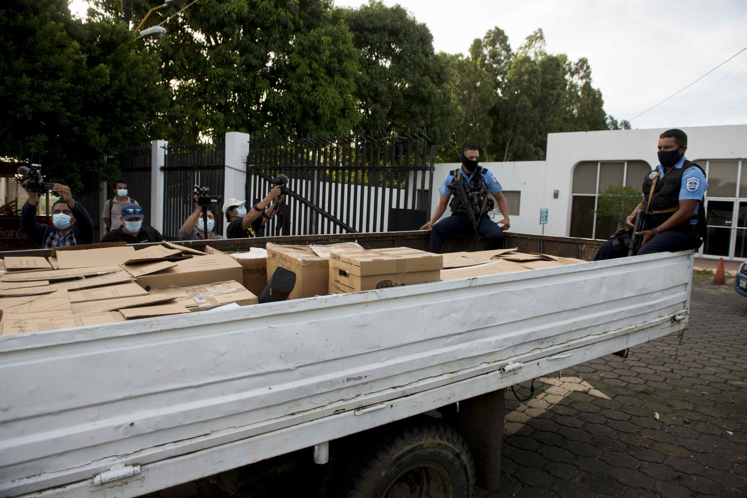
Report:
M441 280L443 256L410 248L374 249L329 256L329 291L385 289Z

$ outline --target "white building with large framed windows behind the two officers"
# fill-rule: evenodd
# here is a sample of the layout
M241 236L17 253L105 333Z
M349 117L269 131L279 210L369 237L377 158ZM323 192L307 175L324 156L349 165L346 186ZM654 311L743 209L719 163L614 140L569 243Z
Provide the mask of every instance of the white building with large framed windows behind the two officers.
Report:
M545 235L607 239L609 218L595 215L597 196L609 186L639 189L659 164L657 142L668 128L550 133L545 161L482 163L498 178L509 201L511 230L542 233L540 209L549 209ZM686 157L708 179L708 235L701 256L747 259L747 124L681 128ZM479 144L478 144L479 145ZM432 209L438 187L456 163L436 164ZM448 211L446 214L448 215Z

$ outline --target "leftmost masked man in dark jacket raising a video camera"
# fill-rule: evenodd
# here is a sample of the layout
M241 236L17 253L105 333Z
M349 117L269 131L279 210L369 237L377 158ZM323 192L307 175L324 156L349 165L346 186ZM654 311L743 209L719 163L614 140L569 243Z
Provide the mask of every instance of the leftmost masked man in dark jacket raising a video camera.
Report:
M86 209L72 198L68 186L43 182L37 165L31 168L21 166L18 172L22 175L22 186L28 192L28 201L21 209L21 230L34 241L37 248L52 249L91 243L93 220ZM60 200L52 204L52 227L37 221L39 195L48 190L60 196Z

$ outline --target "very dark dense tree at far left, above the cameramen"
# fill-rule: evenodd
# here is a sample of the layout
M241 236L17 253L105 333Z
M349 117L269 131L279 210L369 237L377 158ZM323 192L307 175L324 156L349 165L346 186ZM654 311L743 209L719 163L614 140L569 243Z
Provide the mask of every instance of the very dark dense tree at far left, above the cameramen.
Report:
M72 19L66 0L4 1L0 44L1 156L40 157L80 195L116 173L107 154L153 135L166 94L124 23Z

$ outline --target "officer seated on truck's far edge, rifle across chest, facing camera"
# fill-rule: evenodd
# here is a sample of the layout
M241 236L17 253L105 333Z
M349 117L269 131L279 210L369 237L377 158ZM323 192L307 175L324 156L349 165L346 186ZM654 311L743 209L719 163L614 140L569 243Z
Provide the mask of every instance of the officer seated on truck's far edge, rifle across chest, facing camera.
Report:
M438 192L441 192L441 201L438 201L436 212L433 213L433 218L430 218L430 221L421 227L421 230L430 230L428 251L440 253L441 242L443 242L444 237L470 235L474 228L467 217L466 209L472 209L475 219L478 220L477 232L486 241L485 250L502 248L503 230L508 230L511 226L506 198L500 193L503 187L500 186L494 174L486 168L477 166L480 159L477 145L465 145L462 148L460 159L462 160L462 168L449 171L449 174L446 175L444 183L441 184L441 189L438 190ZM470 200L470 206L464 206L459 202L456 192L448 187L454 181L460 181L464 186ZM498 223L503 224L503 227L498 227L498 224L488 216L488 212L495 207L495 203L489 198L488 192L498 201L500 212L503 213L503 219ZM438 218L441 218L441 215L446 211L446 206L452 195L454 196L454 200L451 202L452 214L448 218L438 221Z

